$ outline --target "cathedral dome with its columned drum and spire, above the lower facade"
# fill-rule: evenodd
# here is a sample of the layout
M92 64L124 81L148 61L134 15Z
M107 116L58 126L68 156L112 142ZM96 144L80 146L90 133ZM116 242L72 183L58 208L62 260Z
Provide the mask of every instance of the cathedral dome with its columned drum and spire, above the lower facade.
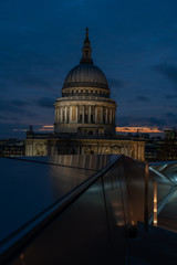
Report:
M55 100L54 131L76 135L115 134L116 103L103 72L93 64L88 29L80 64L65 77Z

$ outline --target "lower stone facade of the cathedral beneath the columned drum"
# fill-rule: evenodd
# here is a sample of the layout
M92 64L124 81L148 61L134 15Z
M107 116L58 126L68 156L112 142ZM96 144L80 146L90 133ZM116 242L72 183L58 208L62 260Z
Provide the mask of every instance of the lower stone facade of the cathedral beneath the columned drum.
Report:
M55 134L31 134L25 140L25 156L54 155L117 155L144 161L145 141L142 139L100 136L59 136Z

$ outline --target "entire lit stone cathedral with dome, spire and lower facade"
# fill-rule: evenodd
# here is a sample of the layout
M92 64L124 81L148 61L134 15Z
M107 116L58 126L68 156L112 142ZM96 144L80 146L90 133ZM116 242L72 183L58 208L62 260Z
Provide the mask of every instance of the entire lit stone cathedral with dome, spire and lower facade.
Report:
M104 73L93 64L86 29L80 64L66 75L54 103L54 134L30 129L25 156L124 153L144 161L143 140L115 135L116 107Z

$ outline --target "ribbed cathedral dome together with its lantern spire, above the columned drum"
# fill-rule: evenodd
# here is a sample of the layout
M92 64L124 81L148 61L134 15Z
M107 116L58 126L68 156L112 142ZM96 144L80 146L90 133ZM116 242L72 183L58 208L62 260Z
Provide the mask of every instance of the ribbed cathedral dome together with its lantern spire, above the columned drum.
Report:
M66 87L101 87L108 89L104 73L93 65L87 29L81 62L69 72L63 85L63 88Z

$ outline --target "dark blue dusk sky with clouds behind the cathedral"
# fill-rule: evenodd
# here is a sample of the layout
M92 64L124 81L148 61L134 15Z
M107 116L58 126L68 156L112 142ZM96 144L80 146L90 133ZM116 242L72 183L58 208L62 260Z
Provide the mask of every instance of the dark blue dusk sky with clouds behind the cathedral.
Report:
M86 26L117 126L177 126L176 0L1 0L0 138L53 125Z

